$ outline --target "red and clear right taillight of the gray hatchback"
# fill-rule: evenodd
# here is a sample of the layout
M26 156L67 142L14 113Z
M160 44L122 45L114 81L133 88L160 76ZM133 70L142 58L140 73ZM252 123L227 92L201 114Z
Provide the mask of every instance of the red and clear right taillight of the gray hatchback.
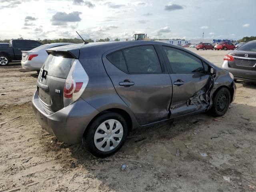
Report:
M64 85L64 107L72 104L73 102L78 100L78 98L80 98L88 82L88 75L86 74L79 60L76 60L70 69L70 72Z

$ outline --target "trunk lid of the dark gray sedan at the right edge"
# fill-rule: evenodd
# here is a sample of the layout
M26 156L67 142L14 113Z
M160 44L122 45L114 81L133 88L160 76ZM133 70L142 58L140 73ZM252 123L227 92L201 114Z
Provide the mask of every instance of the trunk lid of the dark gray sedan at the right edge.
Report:
M231 68L256 70L256 52L248 51L234 51L230 52L234 61L229 61L228 64Z

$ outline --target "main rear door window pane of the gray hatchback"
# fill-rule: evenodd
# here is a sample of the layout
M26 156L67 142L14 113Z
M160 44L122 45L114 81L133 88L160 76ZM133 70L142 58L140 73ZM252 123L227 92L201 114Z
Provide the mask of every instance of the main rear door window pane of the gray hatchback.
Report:
M123 50L130 73L160 73L162 68L152 45L136 46Z

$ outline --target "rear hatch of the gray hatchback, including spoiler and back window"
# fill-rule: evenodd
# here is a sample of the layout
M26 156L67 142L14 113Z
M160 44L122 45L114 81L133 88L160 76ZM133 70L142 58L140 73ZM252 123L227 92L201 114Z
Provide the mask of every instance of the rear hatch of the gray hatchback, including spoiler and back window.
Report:
M48 110L56 112L64 107L64 85L82 46L77 45L46 50L49 56L38 75L37 91L40 101Z

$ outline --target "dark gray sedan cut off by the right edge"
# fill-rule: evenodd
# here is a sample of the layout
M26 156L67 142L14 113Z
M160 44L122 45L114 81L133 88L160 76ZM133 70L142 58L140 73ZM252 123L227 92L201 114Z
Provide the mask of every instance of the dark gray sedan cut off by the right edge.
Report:
M256 40L226 54L222 68L231 72L234 80L256 82Z

